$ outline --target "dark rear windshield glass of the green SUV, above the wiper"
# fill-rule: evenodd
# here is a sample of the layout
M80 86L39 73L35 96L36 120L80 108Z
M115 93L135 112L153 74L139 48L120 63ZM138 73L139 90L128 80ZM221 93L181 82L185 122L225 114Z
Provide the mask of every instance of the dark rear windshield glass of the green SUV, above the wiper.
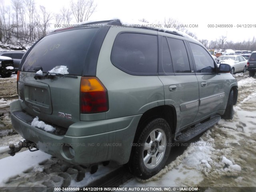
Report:
M43 72L63 69L64 74L81 76L86 54L98 28L83 28L50 34L42 38L30 51L23 71ZM65 72L64 72L65 71Z

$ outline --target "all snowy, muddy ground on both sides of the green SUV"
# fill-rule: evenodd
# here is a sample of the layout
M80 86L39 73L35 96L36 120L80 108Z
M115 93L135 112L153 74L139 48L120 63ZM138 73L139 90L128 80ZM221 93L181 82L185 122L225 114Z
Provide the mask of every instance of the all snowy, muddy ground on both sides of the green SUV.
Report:
M185 143L188 148L156 176L148 180L133 178L123 186L256 187L256 79L237 77L242 80L238 81L239 96L233 120L220 120L198 141ZM4 142L18 139L14 136ZM19 169L20 164L25 168ZM116 168L100 166L96 174L86 172L85 178L77 182L79 169L73 166L62 172L62 165L63 161L40 151L24 151L15 157L2 158L1 172L12 170L0 177L0 186L86 186Z

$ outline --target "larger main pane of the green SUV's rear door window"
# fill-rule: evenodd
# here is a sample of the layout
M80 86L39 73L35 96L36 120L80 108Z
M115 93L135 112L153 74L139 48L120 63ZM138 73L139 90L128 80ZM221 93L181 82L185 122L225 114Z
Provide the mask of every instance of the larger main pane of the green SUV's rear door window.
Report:
M190 73L188 53L183 40L167 38L172 56L174 73Z

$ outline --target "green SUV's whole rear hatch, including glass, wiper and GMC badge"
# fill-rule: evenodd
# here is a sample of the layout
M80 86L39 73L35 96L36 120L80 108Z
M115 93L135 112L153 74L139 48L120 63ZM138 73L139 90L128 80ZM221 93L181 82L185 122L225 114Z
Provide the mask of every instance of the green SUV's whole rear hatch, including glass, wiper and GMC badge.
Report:
M30 48L22 59L18 80L24 112L64 128L80 120L80 80L97 31L60 30Z

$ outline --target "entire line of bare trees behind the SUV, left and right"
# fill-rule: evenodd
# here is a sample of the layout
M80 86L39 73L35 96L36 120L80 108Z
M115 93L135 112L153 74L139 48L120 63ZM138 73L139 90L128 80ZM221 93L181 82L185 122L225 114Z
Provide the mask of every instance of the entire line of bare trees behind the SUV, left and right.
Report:
M0 4L0 42L17 45L33 43L48 34L51 25L62 27L87 21L95 12L96 6L93 0L71 0L69 8L62 7L59 12L51 13L42 5L38 9L34 0L11 0L10 6ZM145 18L140 21L149 23ZM199 40L196 34L186 29L178 20L165 18L162 23L194 37L207 49L256 50L255 38L243 42L227 41L225 36L211 41Z

